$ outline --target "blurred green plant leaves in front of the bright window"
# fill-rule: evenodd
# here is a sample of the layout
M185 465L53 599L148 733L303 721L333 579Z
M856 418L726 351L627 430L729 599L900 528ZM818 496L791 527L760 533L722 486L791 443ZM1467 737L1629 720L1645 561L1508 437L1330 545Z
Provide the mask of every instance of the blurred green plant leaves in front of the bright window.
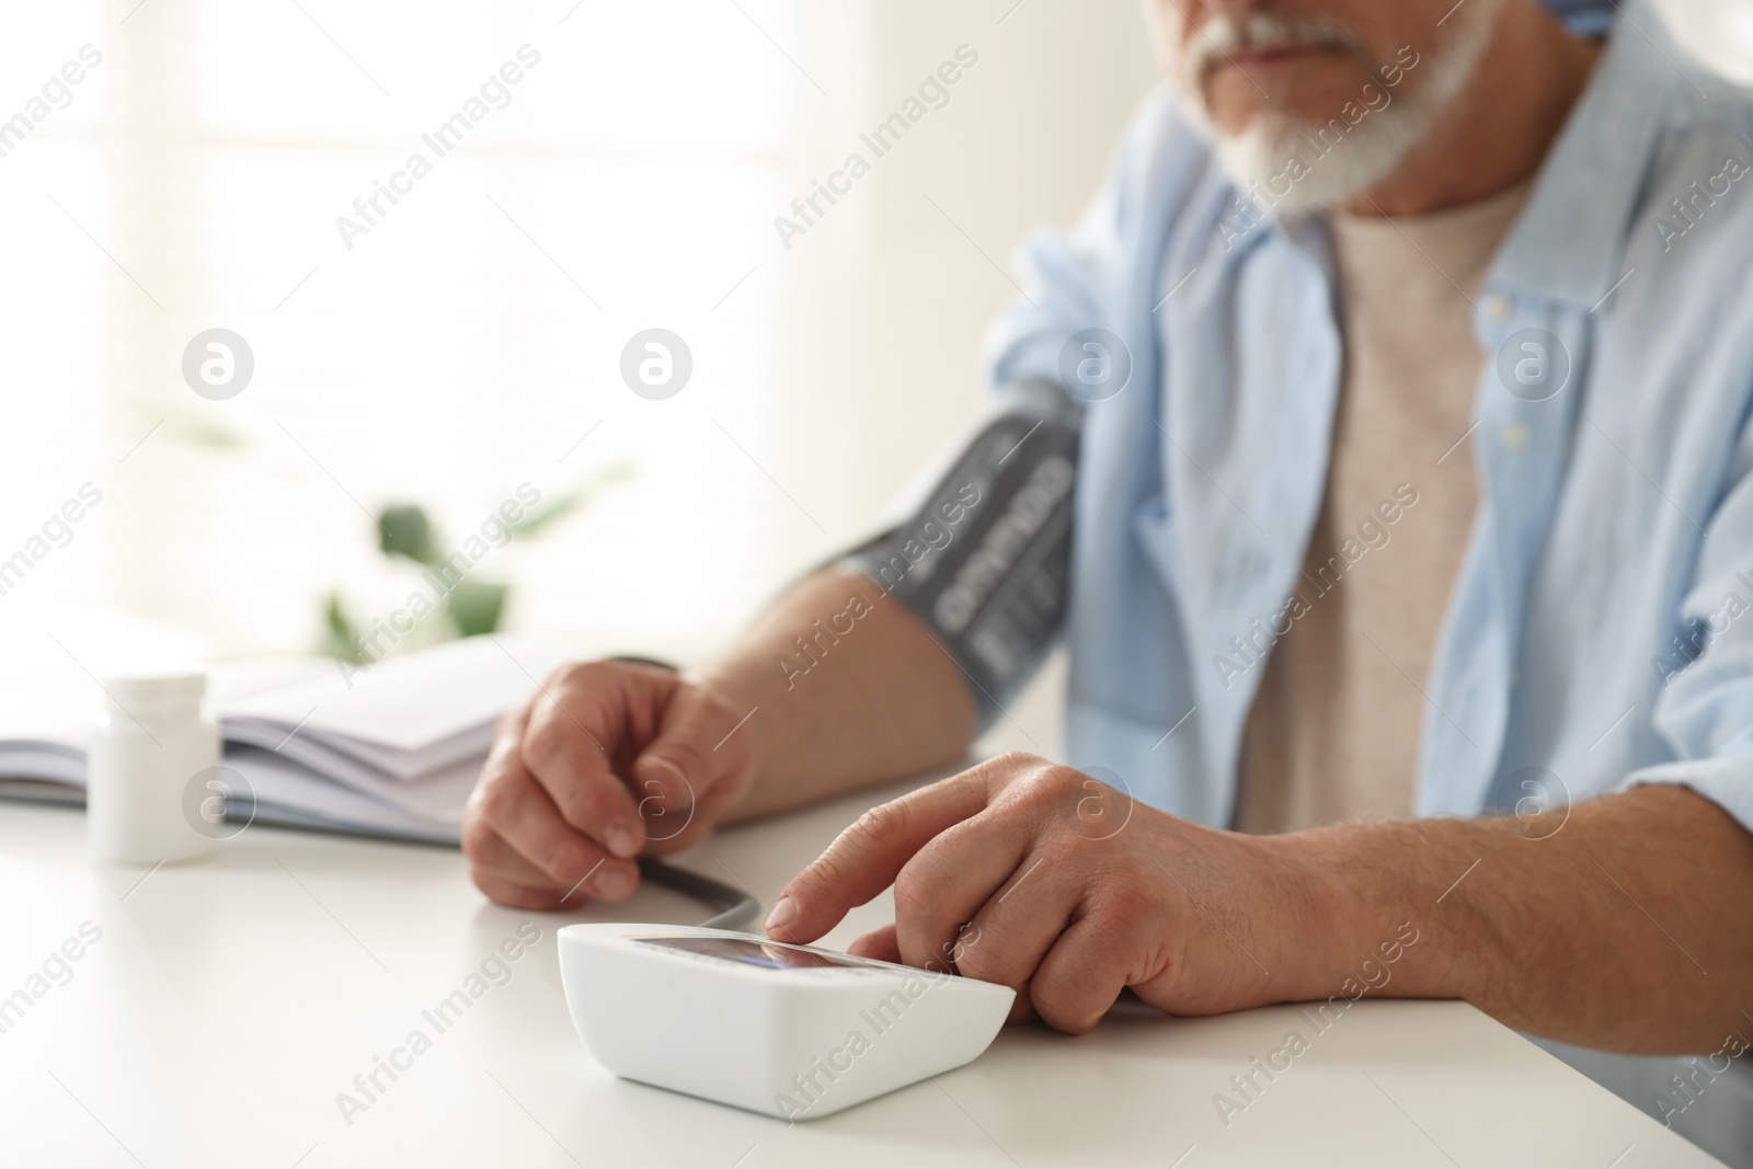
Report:
M556 499L538 503L522 519L507 524L508 538L531 538L543 533L556 521L584 510L601 489L624 478L631 478L631 468L626 464L598 471L591 480ZM498 633L500 620L505 617L510 585L468 575L451 582L440 543L436 528L426 515L426 508L419 505L396 503L377 514L377 549L391 559L400 557L419 564L428 570L428 577L442 577L447 584L429 613L417 617L408 633L400 634L398 631L398 647L435 645L482 633ZM375 661L379 655L366 648L366 634L365 624L347 610L340 592L330 592L323 599L321 654L356 664Z

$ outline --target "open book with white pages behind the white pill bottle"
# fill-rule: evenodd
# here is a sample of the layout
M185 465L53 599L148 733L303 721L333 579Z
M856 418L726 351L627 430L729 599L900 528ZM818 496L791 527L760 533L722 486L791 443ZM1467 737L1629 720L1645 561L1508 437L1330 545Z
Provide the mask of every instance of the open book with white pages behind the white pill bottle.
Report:
M570 655L484 636L368 670L323 657L219 662L209 703L223 764L252 797L228 801L228 818L454 845L494 720ZM0 797L84 803L100 699L88 678L0 692Z

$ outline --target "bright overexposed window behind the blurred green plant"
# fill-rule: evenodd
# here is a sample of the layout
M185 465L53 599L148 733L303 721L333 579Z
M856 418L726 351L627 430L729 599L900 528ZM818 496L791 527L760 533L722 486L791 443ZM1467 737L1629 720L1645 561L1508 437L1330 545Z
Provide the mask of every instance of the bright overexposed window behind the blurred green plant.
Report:
M91 63L0 158L0 533L26 540L82 484L102 501L12 613L102 603L217 652L305 650L326 591L366 619L407 596L379 507L419 503L458 545L521 485L582 487L552 536L472 571L515 582L521 624L684 648L833 547L785 496L808 412L775 387L787 289L763 265L834 116L799 61L850 9L145 0L16 21L0 102ZM617 373L650 326L692 352L668 401ZM254 358L223 401L181 373L209 328Z

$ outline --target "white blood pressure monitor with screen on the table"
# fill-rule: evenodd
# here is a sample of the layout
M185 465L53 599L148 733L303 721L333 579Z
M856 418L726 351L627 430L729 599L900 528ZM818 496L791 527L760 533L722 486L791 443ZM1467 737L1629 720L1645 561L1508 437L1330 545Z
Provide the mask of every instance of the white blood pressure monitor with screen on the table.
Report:
M559 931L578 1038L608 1071L813 1120L961 1067L1015 990L727 929Z

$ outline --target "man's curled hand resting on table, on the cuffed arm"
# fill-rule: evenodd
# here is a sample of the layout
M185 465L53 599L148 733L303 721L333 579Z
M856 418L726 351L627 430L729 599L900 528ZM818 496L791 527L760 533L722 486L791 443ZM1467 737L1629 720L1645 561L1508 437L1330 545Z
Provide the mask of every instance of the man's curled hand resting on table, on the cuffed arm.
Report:
M500 720L463 811L475 885L522 910L628 897L631 857L685 848L749 787L747 715L668 670L561 666Z

